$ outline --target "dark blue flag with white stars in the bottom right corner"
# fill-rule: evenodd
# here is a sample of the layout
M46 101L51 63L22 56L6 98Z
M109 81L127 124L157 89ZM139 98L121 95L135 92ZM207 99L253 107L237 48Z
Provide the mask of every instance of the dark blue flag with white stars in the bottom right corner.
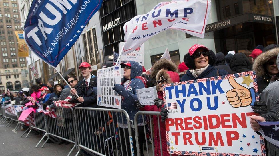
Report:
M279 148L279 121L258 122L261 125L260 133L270 143Z

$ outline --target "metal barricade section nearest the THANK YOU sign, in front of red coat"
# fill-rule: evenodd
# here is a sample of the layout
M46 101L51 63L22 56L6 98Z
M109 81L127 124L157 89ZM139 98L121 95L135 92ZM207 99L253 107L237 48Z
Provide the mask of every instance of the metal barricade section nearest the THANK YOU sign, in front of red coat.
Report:
M139 126L137 126L137 118L142 116L143 120L144 120L144 115L146 115L149 118L149 124L148 126L148 130L149 130L149 135L151 138L151 145L148 146L148 134L147 134L147 128L146 125L143 125L144 127L144 136L139 136ZM166 147L166 134L161 134L161 124L165 124L163 122L161 122L161 119L159 118L161 116L160 112L156 112L156 111L139 111L135 114L135 118L134 118L134 126L135 126L135 138L136 138L136 147L137 150L140 150L141 148L146 148L146 152L144 152L144 155L172 155L172 154L167 154L167 147ZM156 122L157 126L154 127L154 122ZM145 121L143 121L145 122ZM162 125L161 125L162 126ZM156 131L156 132L154 132ZM164 132L166 132L166 128L163 130ZM154 136L154 134L157 134L156 136ZM145 142L143 142L143 144L139 144L139 139L141 137L145 137ZM163 142L162 142L162 138ZM162 143L165 144L165 146L162 145ZM152 148L152 151L149 150L150 148ZM163 154L164 153L164 154ZM137 153L137 155L139 156L140 153Z

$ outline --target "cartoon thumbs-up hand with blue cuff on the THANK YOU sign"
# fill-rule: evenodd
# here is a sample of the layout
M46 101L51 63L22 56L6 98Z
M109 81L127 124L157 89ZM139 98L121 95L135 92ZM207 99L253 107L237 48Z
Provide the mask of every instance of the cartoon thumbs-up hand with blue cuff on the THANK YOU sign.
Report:
M244 86L238 84L233 77L229 78L229 83L233 89L227 91L226 96L232 107L238 108L254 104L256 100L254 88L248 90Z

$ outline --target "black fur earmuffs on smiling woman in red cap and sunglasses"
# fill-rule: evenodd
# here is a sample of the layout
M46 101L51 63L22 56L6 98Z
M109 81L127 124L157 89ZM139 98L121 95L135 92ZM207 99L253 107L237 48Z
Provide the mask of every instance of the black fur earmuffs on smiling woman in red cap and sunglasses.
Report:
M208 54L208 64L210 64L211 66L214 66L215 54L212 50L209 50L208 53L209 53ZM189 53L184 55L183 61L185 62L186 66L188 66L189 69L196 69L194 57L190 56Z

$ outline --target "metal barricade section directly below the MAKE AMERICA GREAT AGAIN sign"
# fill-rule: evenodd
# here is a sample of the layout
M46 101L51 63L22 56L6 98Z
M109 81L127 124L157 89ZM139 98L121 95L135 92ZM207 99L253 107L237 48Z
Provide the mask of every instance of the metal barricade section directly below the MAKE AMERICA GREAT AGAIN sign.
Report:
M128 128L117 130L117 123L124 123L123 117L128 121ZM131 120L125 110L75 107L75 122L77 155L80 152L86 155L134 155Z

